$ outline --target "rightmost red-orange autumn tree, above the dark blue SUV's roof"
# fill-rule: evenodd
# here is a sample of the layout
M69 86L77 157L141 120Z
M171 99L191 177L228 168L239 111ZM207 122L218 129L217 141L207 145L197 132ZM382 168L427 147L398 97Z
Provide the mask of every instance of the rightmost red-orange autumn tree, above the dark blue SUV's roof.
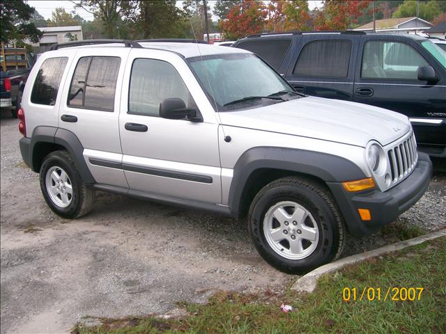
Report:
M357 23L357 19L370 2L371 0L327 0L322 10L317 11L314 27L318 31L346 30L348 26Z

